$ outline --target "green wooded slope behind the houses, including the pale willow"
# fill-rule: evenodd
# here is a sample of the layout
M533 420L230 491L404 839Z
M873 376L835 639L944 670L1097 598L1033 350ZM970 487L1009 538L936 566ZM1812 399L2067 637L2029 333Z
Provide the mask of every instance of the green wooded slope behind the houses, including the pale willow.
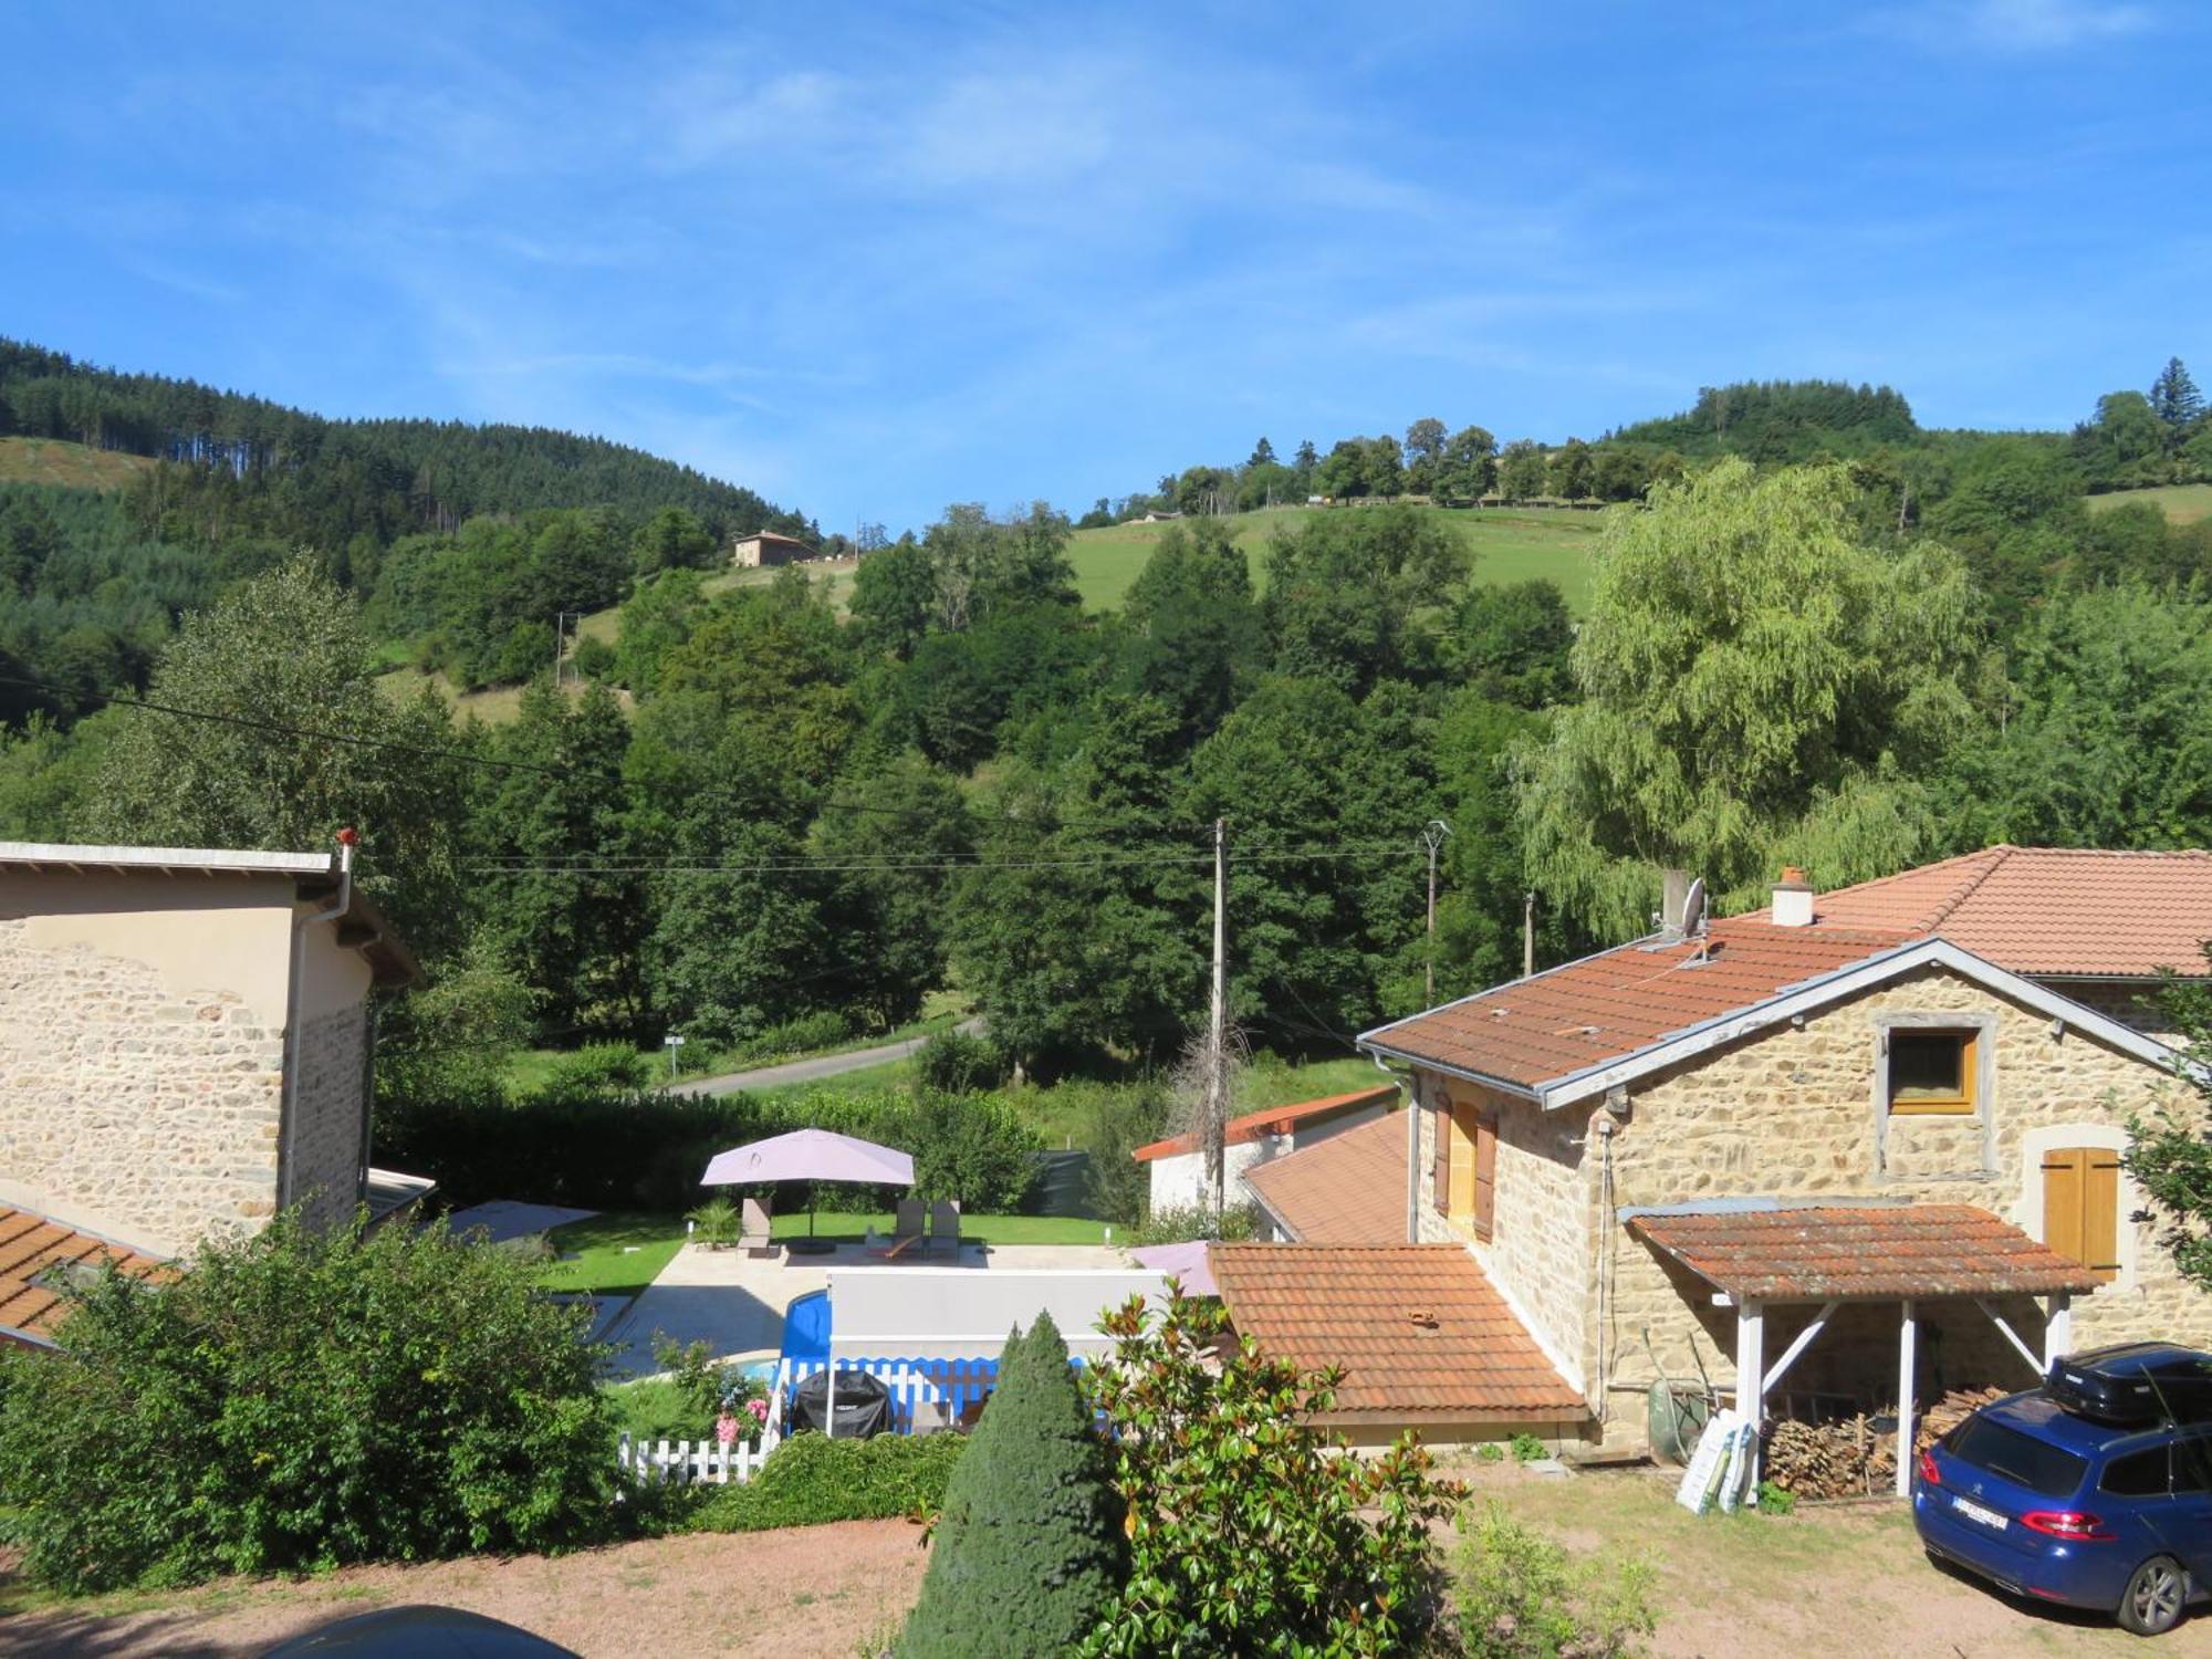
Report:
M1997 838L2212 841L2212 524L2086 509L2124 409L1891 442L1882 394L1701 405L1690 449L1849 411L1869 445L1681 451L1641 500L1546 520L1590 531L1579 628L1553 582L1486 580L1455 531L1509 522L1484 509L1148 526L1106 611L1046 504L949 509L834 606L799 568L710 584L717 533L650 493L389 538L372 513L334 551L257 511L210 540L204 509L261 489L221 458L9 487L0 834L356 823L434 971L394 1024L420 1055L489 1026L825 1040L953 984L1055 1071L1181 1044L1219 818L1237 1018L1340 1051L1431 960L1438 995L1511 975L1531 894L1548 962L1639 929L1666 863L1739 905L1783 858L1834 885ZM2168 414L2185 458L2201 418ZM553 619L593 606L615 628L555 688ZM398 657L526 679L520 712L394 701Z

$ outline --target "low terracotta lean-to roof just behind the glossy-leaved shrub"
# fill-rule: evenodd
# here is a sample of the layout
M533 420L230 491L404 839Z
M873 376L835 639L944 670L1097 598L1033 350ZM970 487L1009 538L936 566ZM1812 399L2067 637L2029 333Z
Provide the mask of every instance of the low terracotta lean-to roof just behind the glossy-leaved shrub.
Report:
M1237 1329L1340 1365L1329 1416L1557 1422L1588 1416L1460 1245L1214 1245Z

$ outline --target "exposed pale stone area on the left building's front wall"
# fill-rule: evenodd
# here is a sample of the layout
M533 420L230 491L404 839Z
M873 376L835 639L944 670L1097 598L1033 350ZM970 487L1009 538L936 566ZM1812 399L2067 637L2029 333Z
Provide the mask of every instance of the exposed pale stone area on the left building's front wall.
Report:
M86 945L40 949L0 920L0 1009L11 1188L157 1250L274 1212L283 1033L237 995L179 993Z

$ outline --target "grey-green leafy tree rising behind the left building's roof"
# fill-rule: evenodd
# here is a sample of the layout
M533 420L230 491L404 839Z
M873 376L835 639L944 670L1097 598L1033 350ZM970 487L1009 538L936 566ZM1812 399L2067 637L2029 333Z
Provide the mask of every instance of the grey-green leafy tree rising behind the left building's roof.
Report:
M150 701L100 759L88 834L124 845L319 852L361 832L363 885L418 949L453 942L467 761L431 692L394 706L358 606L312 564L186 619Z

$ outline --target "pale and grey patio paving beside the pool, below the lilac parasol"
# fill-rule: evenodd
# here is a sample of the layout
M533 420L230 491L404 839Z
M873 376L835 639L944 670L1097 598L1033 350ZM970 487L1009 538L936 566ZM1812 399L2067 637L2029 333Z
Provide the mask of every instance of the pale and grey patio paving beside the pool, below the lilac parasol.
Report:
M951 1256L918 1256L887 1263L867 1245L838 1245L821 1256L752 1256L743 1250L684 1245L606 1332L615 1343L615 1371L653 1376L653 1334L677 1343L706 1343L717 1358L776 1358L783 1352L783 1310L794 1296L830 1285L832 1267L905 1272L951 1267ZM1115 1245L978 1245L960 1250L960 1267L1128 1267L1128 1252Z

